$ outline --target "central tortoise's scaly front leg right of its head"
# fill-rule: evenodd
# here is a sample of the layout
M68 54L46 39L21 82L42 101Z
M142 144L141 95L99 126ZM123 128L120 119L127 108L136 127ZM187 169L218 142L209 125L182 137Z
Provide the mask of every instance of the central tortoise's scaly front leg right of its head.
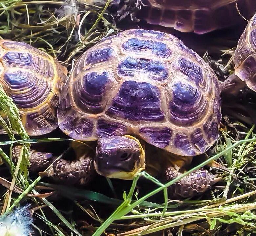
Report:
M181 172L176 171L174 167L168 167L165 172L168 181L180 175ZM169 196L173 199L180 199L200 195L221 180L221 177L216 177L216 175L209 173L208 170L196 170L168 187Z

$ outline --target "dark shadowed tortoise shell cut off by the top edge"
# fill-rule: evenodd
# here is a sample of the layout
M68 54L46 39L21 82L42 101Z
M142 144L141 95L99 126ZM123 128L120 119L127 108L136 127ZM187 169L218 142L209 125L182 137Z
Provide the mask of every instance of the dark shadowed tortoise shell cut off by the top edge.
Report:
M147 23L174 27L181 32L207 33L250 19L255 0L144 0L138 18Z

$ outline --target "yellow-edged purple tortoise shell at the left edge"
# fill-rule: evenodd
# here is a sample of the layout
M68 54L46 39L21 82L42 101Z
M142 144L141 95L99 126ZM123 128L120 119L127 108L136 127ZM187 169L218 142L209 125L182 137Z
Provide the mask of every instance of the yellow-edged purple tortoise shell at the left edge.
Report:
M0 40L0 84L19 108L29 135L58 127L58 96L66 75L67 69L47 53L23 42ZM5 131L0 128L0 133Z

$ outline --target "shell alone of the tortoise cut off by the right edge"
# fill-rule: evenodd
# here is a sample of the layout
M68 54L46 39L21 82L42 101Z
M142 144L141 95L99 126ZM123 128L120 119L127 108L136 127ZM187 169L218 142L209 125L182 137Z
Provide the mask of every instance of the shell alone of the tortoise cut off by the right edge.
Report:
M256 14L238 41L233 61L235 74L256 92Z

